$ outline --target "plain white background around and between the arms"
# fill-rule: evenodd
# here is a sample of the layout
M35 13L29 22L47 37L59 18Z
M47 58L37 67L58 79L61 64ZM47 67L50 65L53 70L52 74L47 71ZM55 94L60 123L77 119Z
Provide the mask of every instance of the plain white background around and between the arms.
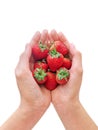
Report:
M14 69L34 33L62 31L83 55L80 100L98 125L98 0L0 0L0 125L19 105ZM64 130L51 105L33 130Z

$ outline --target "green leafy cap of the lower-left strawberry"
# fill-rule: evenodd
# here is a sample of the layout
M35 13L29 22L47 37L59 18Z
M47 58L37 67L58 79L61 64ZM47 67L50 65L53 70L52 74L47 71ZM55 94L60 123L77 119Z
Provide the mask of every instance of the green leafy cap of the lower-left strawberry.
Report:
M38 81L44 80L46 75L47 75L46 72L43 69L41 69L41 68L37 68L36 71L34 72L34 77Z

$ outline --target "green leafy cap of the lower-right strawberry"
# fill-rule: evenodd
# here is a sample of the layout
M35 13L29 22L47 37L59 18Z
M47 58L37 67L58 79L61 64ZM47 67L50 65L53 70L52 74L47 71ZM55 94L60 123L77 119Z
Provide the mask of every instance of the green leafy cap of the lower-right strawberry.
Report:
M59 80L62 80L62 79L67 79L69 77L70 73L67 69L63 69L61 68L57 74Z

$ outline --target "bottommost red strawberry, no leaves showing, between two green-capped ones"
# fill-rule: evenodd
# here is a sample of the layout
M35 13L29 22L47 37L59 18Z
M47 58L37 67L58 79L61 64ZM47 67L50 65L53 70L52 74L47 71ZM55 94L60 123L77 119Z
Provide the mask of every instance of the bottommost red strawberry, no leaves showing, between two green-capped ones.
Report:
M52 72L47 72L47 81L45 82L45 87L48 90L54 90L57 87L56 75Z

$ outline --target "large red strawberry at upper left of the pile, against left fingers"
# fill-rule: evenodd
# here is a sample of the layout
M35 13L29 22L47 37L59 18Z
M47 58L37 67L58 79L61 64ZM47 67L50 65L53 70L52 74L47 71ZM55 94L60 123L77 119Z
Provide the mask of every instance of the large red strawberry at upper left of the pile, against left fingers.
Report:
M34 44L32 47L32 54L35 60L41 60L47 57L49 49L47 45L39 42L39 44Z

